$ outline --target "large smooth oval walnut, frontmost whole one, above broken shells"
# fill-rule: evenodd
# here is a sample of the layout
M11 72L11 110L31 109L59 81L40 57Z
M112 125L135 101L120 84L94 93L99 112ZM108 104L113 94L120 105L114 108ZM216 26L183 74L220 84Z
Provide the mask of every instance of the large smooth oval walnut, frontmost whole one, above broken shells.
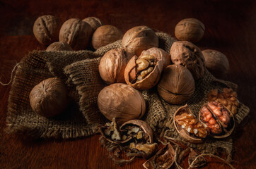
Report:
M141 92L127 84L115 83L103 88L98 94L98 108L105 118L122 124L141 118L146 111Z

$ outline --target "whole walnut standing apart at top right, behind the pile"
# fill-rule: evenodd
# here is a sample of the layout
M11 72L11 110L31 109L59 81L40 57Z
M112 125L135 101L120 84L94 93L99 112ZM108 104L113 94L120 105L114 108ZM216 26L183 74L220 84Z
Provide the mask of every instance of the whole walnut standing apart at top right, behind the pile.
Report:
M204 24L195 18L180 20L175 27L175 37L180 41L198 42L204 35Z

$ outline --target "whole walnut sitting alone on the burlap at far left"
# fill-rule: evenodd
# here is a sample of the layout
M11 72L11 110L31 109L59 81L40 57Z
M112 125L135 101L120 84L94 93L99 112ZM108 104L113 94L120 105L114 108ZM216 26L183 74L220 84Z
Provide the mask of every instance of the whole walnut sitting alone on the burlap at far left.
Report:
M31 90L29 98L33 111L47 118L62 113L69 105L66 86L56 77L37 84Z

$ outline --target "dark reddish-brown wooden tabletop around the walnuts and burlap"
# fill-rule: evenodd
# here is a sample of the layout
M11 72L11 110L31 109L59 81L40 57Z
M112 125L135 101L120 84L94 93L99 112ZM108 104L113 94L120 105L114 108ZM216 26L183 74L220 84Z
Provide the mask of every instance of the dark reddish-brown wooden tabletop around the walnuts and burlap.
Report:
M183 18L197 18L206 30L197 43L200 49L216 49L228 57L231 70L224 80L238 84L238 99L250 114L236 129L233 165L256 168L256 3L255 1L0 1L0 77L10 80L11 70L33 49L46 49L33 36L40 15L69 18L96 16L125 32L136 25L174 35ZM74 140L31 140L6 134L10 85L0 85L0 168L142 168L144 159L119 167L100 146L98 135ZM205 168L228 168L211 158ZM187 168L187 159L182 163ZM172 168L175 168L174 166Z

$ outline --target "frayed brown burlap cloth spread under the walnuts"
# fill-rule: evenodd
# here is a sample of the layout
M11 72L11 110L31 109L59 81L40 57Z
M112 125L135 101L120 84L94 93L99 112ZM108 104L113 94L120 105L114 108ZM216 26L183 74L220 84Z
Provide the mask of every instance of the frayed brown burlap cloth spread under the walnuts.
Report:
M168 53L174 39L158 32L159 47ZM121 47L121 40L92 51L32 51L23 58L11 85L8 99L7 131L28 134L42 138L76 138L87 137L98 132L98 124L106 119L98 110L97 96L106 84L100 79L98 64L100 57L110 49ZM44 118L30 108L29 94L31 89L48 77L62 78L69 87L69 94L74 99L66 112L56 118ZM188 104L192 113L198 115L199 108L206 103L206 94L211 89L223 89L236 84L217 80L207 70L204 77L195 82L196 90L184 104ZM225 149L230 157L232 135L226 139L206 139L202 144L189 144L175 131L170 122L173 113L182 105L165 103L156 92L156 87L142 91L146 100L147 111L142 118L156 133L165 139L175 140L208 153L215 153L218 148ZM238 125L249 113L249 108L240 103L235 122ZM163 132L164 131L164 132Z

